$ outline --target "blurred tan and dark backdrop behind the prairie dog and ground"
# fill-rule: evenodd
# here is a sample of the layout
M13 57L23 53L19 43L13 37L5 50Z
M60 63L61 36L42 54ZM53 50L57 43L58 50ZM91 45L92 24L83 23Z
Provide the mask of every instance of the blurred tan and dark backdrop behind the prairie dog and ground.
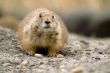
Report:
M0 0L0 26L16 30L32 10L56 12L71 33L87 37L110 37L110 0Z

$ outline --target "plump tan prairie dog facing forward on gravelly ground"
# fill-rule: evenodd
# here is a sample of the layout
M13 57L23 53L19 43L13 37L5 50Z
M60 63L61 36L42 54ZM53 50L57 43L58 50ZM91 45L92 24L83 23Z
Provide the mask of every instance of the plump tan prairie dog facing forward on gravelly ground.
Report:
M49 56L56 56L67 41L68 30L59 16L40 8L29 13L18 25L18 38L29 55L44 48Z

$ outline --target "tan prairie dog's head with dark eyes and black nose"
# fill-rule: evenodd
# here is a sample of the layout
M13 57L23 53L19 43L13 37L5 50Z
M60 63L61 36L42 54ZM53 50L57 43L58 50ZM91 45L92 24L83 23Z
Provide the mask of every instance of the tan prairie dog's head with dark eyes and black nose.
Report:
M55 13L49 11L48 9L37 9L36 15L32 24L33 28L36 28L37 31L48 32L55 31L59 25L59 20Z

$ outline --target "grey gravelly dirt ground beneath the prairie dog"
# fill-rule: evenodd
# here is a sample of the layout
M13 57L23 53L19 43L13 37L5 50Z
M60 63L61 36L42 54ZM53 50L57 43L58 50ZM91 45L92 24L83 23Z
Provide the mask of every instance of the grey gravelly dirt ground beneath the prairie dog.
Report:
M94 39L70 34L61 50L64 57L42 59L20 49L16 32L0 27L0 73L110 73L110 38ZM22 61L28 61L21 66ZM75 73L75 72L73 72Z

